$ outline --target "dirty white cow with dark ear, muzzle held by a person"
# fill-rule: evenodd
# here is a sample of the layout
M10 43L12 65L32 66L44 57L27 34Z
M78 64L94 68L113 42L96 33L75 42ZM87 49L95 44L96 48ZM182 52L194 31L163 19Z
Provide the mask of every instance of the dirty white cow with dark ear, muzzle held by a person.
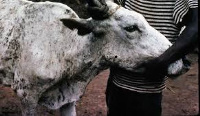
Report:
M142 15L107 4L110 17L93 20L61 3L0 0L0 80L20 96L23 116L36 115L38 103L69 104L63 114L76 115L75 102L100 71L134 70L171 45Z

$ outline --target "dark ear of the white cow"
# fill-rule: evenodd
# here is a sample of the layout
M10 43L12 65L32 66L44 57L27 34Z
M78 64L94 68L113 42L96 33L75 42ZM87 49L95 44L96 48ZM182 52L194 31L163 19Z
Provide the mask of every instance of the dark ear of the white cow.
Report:
M86 19L60 19L69 29L78 29L79 35L85 35L92 32L92 25Z

